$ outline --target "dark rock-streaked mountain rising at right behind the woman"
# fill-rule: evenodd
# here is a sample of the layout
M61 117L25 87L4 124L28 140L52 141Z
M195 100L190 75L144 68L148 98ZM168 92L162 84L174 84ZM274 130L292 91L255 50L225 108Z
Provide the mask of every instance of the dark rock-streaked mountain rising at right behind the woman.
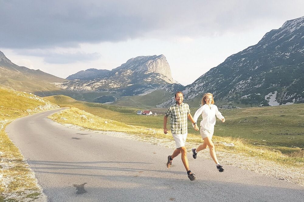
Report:
M183 91L199 106L204 93L218 105L274 106L304 103L304 17L286 21L253 46L229 56ZM158 107L170 105L173 99Z

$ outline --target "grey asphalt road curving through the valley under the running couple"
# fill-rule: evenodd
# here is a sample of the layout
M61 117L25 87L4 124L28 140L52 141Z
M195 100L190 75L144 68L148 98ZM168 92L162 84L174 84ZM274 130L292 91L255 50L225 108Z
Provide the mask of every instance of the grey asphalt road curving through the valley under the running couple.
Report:
M36 174L48 201L304 201L304 187L188 153L197 180L172 149L78 131L47 119L60 109L26 116L6 127ZM273 167L273 169L276 169Z

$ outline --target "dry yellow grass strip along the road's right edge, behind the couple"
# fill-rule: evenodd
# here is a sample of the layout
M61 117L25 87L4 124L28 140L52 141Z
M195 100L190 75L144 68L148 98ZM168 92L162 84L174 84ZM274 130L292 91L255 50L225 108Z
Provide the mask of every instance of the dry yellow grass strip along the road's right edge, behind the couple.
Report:
M131 126L110 119L100 118L98 116L87 113L77 108L71 108L61 111L50 118L59 123L69 123L76 126L81 126L91 130L116 131L132 133L142 137L157 137L167 138L172 140L170 133L164 134L162 129L153 129L142 126ZM230 153L243 154L245 156L259 157L265 160L271 160L276 163L281 163L293 167L303 166L303 158L294 156L290 157L282 154L279 150L271 150L269 147L252 146L246 143L245 140L233 137L218 137L214 136L213 141L216 144L216 149ZM188 134L187 142L203 143L201 136ZM234 147L224 146L220 142L233 143Z

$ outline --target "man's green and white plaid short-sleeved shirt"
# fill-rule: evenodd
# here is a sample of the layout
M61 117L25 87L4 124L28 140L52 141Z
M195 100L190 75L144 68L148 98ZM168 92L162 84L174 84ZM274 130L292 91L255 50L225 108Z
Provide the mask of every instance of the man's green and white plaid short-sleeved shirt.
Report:
M188 113L190 113L190 109L186 103L181 103L181 105L175 103L168 108L165 116L171 115L171 133L188 133Z

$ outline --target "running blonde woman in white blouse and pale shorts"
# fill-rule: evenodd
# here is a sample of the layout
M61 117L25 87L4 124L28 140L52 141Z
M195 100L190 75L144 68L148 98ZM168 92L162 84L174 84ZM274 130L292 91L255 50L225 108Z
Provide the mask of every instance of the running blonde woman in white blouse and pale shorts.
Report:
M200 133L202 136L202 139L204 140L204 143L200 145L198 148L192 148L193 158L196 159L196 154L206 149L207 146L210 150L210 155L214 162L216 163L216 168L219 170L219 172L223 172L223 167L219 164L219 161L216 158L214 144L212 143L212 136L214 132L214 125L216 122L215 116L219 118L222 122L225 122L224 116L219 112L219 109L217 109L217 106L214 105L214 99L213 95L211 93L205 93L202 98L202 106L195 112L193 119L195 121L194 124L192 124L193 127L196 125L196 121L199 118L199 115L202 115L203 120L199 124L201 126Z

